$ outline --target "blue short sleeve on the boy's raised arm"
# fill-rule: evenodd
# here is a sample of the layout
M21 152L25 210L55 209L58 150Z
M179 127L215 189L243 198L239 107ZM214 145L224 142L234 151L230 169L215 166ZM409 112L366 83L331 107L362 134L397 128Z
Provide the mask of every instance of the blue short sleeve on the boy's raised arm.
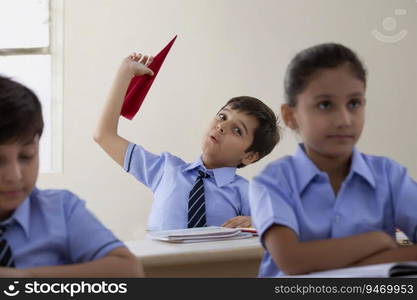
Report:
M137 180L155 191L164 173L168 154L153 154L142 146L130 143L127 147L124 169Z

